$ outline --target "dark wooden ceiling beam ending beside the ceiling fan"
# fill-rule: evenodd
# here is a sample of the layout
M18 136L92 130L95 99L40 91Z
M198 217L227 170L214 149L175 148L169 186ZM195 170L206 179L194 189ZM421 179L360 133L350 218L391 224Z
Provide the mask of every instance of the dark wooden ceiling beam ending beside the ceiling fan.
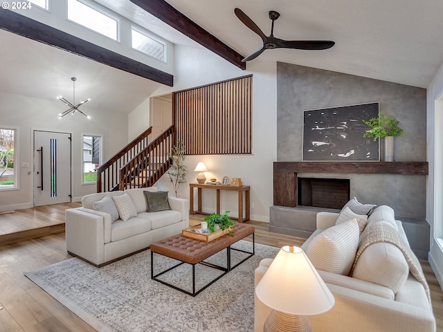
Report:
M226 59L231 64L235 66L246 69L246 62L242 62L244 56L237 53L235 50L221 42L217 37L208 33L208 31L201 28L201 26L195 24L179 12L177 9L172 7L169 3L164 0L130 0L135 3L138 7L150 12L152 15L161 19L169 26L172 26L175 30L183 33L190 39L201 44L208 50L213 51L215 54Z

